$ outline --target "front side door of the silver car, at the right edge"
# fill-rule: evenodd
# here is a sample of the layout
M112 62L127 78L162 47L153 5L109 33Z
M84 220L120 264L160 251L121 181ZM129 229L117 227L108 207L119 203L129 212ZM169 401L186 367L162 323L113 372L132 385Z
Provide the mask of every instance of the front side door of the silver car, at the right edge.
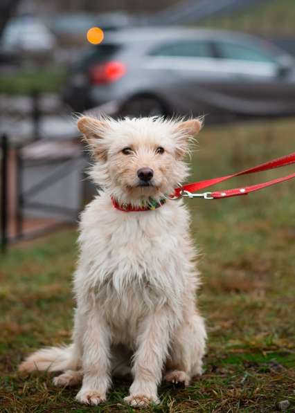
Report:
M220 71L215 92L224 107L246 116L280 115L290 104L294 111L295 84L278 75L278 55L267 43L220 39L213 46Z

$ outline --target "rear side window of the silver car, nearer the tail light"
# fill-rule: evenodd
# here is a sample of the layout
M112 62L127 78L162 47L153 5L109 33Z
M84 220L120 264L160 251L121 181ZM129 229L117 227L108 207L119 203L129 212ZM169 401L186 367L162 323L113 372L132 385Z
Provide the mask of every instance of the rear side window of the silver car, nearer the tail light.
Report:
M208 42L181 41L169 43L154 49L153 56L213 57Z

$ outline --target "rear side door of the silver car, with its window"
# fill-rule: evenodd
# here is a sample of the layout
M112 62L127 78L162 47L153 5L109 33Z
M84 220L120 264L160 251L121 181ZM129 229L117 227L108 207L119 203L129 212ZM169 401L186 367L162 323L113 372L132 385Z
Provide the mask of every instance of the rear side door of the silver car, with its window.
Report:
M152 47L145 70L174 113L211 113L217 62L210 40L171 39Z

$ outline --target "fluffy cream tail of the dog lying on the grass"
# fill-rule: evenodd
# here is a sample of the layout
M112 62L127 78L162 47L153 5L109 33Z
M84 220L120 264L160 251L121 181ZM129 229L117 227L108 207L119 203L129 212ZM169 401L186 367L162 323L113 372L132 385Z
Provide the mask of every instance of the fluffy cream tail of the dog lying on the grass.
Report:
M78 368L79 360L75 358L74 345L62 347L47 347L35 351L19 366L19 371L64 371Z

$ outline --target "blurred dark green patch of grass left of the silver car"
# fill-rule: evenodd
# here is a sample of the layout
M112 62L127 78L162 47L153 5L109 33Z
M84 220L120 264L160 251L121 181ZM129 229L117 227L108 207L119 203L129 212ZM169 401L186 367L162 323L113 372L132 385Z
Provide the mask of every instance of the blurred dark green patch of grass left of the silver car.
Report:
M1 73L0 93L28 95L32 91L57 93L64 84L63 68L33 68L31 70Z

